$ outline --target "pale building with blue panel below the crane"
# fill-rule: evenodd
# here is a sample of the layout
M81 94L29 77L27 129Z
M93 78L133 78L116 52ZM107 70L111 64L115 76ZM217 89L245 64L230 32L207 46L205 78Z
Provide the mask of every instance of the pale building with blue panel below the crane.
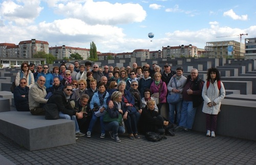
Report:
M211 58L244 58L244 44L231 41L206 42L206 57Z

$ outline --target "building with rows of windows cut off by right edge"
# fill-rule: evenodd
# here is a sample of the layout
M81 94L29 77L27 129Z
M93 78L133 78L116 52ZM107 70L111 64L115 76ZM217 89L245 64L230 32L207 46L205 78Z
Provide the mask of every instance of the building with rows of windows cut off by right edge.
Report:
M256 59L256 38L245 39L245 59Z

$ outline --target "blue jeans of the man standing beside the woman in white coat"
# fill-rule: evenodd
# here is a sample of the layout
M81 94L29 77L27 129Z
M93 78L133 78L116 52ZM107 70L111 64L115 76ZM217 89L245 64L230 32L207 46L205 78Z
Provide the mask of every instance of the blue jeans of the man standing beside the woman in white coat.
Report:
M182 103L181 118L179 126L192 129L197 107L193 107L192 101L184 101Z

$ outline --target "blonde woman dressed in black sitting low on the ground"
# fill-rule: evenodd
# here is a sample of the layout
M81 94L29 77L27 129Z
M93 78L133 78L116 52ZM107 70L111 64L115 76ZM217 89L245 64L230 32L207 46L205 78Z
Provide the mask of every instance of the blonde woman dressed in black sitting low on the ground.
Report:
M158 132L160 134L168 134L174 136L174 132L170 129L173 125L164 119L161 115L158 115L155 109L155 100L151 99L147 101L147 106L144 107L141 120L143 123L144 132Z

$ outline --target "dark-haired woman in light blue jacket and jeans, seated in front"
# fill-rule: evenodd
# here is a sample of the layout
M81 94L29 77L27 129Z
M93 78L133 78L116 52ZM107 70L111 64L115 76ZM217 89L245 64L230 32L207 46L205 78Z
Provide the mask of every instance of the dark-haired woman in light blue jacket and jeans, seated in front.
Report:
M108 105L106 105L106 99L109 97L109 93L106 92L106 87L102 82L99 82L99 91L94 93L92 100L90 101L90 108L93 110L92 119L87 131L87 137L91 137L91 133L93 131L93 127L97 121L97 116L95 115L96 111L100 111L100 113L103 113L103 111L108 108ZM104 129L104 123L103 123L103 115L99 116L100 118L100 128L101 128L101 134L100 138L105 138L105 129Z

